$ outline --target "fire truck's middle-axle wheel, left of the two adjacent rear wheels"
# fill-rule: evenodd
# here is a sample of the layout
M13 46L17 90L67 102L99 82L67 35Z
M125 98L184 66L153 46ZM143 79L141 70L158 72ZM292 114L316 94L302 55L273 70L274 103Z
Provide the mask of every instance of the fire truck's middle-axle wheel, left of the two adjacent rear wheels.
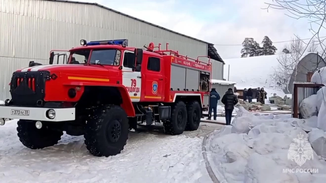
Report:
M164 132L171 135L180 135L187 125L187 108L179 101L175 104L169 121L163 122Z

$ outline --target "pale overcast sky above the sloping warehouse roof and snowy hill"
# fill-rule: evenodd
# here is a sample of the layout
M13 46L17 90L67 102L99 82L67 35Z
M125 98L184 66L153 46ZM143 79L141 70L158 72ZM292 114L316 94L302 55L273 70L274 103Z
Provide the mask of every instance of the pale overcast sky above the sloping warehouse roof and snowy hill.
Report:
M307 20L285 16L270 9L272 0L78 0L96 2L125 14L214 44L241 44L245 37L260 43L264 36L273 42L298 35L310 38ZM285 43L275 43L278 52ZM242 46L215 45L222 59L239 58Z

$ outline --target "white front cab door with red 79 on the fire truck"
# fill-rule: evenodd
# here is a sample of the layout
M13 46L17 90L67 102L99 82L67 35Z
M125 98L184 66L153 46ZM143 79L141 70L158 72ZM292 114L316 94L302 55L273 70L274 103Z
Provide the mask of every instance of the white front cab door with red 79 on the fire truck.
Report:
M122 60L122 84L126 87L131 102L139 102L141 91L141 73L132 71L132 66L135 64L133 51L125 50L123 52Z

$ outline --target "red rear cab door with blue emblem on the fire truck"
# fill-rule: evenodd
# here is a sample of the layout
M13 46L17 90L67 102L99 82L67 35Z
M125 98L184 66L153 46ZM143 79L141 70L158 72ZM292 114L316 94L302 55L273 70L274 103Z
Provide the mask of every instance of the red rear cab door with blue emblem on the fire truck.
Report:
M146 74L144 74L145 101L163 101L164 100L164 77L163 77L163 59L149 56L147 60ZM144 71L144 70L143 70Z

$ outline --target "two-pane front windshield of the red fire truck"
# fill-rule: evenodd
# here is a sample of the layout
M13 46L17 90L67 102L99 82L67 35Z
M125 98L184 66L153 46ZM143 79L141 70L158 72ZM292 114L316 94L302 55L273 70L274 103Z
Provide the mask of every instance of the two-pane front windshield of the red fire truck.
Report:
M72 53L69 64L101 64L119 66L121 51L116 49L93 50L89 58L90 49L78 50Z

